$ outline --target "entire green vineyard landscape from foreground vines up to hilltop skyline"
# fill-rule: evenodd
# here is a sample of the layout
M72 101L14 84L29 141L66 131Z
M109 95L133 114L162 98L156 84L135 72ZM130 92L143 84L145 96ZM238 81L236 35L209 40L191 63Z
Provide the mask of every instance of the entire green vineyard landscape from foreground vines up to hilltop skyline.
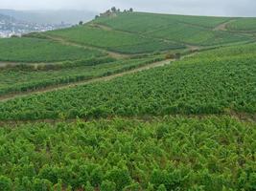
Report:
M254 21L110 12L0 39L0 191L255 191Z

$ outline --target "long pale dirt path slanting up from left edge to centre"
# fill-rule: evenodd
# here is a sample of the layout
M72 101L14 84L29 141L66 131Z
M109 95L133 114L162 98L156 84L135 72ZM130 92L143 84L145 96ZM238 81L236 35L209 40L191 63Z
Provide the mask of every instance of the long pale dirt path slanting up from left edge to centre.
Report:
M43 93L47 93L47 92L54 92L54 91L58 91L58 90L62 90L62 89L67 89L67 88L72 88L72 87L76 87L76 86L91 84L91 83L95 83L95 82L108 81L108 80L111 80L113 78L123 76L123 75L126 75L126 74L134 74L134 73L138 73L138 72L141 72L141 71L146 71L146 70L149 70L149 69L152 69L152 68L161 67L161 66L170 64L172 61L175 61L175 60L174 59L168 59L168 60L164 60L164 61L160 61L160 62L154 62L154 63L148 64L146 66L139 67L139 68L136 68L136 69L133 69L133 70L130 70L130 71L123 72L123 73L111 74L111 75L103 76L103 77L97 77L97 78L94 78L94 79L75 82L75 83L72 83L72 84L49 86L45 89L35 90L33 92L24 92L24 93L20 93L20 94L14 93L12 95L0 96L0 102L8 101L8 100L11 100L11 99L17 98L17 97L38 95L38 94L43 94Z

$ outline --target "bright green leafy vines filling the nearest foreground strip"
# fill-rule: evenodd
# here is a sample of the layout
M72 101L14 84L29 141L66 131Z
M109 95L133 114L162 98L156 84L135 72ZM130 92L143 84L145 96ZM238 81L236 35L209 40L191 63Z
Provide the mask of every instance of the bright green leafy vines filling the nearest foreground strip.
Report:
M254 190L256 126L171 117L4 126L1 190Z

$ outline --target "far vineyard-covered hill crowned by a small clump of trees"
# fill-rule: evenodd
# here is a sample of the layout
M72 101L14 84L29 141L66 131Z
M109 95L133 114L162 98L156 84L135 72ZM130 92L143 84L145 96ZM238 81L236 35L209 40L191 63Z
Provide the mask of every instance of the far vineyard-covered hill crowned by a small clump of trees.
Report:
M245 32L228 31L229 23L236 20L238 18L106 11L85 25L47 32L47 35L127 54L198 50L253 41L253 36Z

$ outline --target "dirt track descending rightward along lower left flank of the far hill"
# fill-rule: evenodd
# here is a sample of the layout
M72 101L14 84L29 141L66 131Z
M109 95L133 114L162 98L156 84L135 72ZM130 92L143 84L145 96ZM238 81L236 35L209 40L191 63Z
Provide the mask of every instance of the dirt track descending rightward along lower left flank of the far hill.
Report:
M93 47L93 46L89 46L89 45L81 45L79 43L71 42L71 41L69 41L67 39L64 39L62 37L59 37L59 36L42 34L42 33L40 35L42 35L43 37L46 37L50 40L56 41L56 42L58 42L62 45L67 45L67 46L72 46L72 47L79 47L79 48L86 49L86 50L94 50L94 51L96 50L96 51L99 51L99 52L102 52L102 53L107 53L109 56L114 57L114 58L128 58L128 57L130 57L130 55L128 55L128 54L106 51L105 49L101 49L101 48Z

